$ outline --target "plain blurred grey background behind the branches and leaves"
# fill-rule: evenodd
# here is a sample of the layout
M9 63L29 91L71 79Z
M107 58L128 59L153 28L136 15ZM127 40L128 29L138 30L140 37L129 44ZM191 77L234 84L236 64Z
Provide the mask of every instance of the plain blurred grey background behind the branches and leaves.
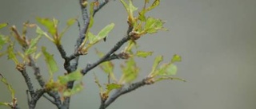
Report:
M137 6L142 5L142 1ZM165 61L174 53L182 56L178 63L178 77L187 80L162 81L123 95L114 102L110 109L254 109L256 107L256 1L255 0L165 0L150 14L166 21L168 32L159 32L142 37L139 49L154 51L154 56L162 54ZM60 28L68 18L81 18L77 0L1 0L0 22L9 22L21 29L22 22L35 22L35 17L57 18ZM113 32L106 43L97 47L106 53L114 42L120 40L126 32L126 12L120 2L110 2L95 16L94 33L105 25L114 22ZM34 30L30 30L30 37ZM2 29L1 33L9 33ZM72 53L74 41L78 37L77 25L63 37L62 44L67 53ZM58 53L46 38L39 44L46 45L48 51ZM58 62L63 60L54 55ZM141 67L139 78L150 72L154 56L138 59ZM87 62L94 62L98 57L94 50L81 58L80 67ZM27 108L25 84L19 72L14 70L14 62L0 58L0 72L6 76L16 90L19 106ZM116 73L120 75L118 63ZM38 60L44 76L48 76L43 59ZM62 65L60 65L62 67ZM33 76L31 70L29 70ZM62 75L64 70L55 76ZM105 74L97 68L93 71L101 82ZM74 95L71 108L95 109L99 106L98 88L94 84L93 73L84 78L85 90ZM34 79L33 79L34 80ZM36 83L36 82L34 82ZM10 94L0 84L0 101L10 100ZM38 88L38 87L36 87ZM1 107L2 108L2 107ZM55 108L42 98L38 109Z

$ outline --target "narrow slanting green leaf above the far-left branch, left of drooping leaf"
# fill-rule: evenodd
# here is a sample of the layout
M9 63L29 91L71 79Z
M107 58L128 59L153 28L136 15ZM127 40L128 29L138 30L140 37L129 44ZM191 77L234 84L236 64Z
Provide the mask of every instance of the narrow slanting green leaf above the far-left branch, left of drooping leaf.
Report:
M30 41L30 45L29 45L29 48L26 49L25 51L25 55L30 55L31 53L35 53L37 51L37 44L38 44L38 41L40 40L40 38L42 37L42 35L38 35L38 37L32 39Z

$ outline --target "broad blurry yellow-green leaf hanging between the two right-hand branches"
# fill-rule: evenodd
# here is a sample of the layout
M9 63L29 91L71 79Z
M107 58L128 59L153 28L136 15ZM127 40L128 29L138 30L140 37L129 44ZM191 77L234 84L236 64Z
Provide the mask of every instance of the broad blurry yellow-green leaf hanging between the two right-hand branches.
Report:
M126 60L126 66L122 65L122 77L121 81L130 83L138 76L139 68L137 67L133 58Z

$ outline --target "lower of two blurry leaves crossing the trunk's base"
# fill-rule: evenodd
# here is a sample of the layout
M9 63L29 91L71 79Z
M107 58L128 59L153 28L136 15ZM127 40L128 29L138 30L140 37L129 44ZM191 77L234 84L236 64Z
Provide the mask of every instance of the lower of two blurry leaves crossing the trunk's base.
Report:
M82 84L75 84L74 88L67 89L66 91L64 91L63 92L63 96L74 95L74 94L78 93L79 91L82 91L82 89L83 89L83 85Z

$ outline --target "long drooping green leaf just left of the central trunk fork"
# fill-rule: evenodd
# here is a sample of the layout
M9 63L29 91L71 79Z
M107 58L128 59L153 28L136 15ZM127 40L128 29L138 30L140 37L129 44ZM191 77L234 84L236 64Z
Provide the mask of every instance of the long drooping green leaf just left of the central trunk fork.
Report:
M54 72L58 72L58 65L56 64L56 61L54 60L54 55L51 55L50 53L47 53L46 47L42 47L42 54L45 56L46 64L49 68L50 77L54 75Z

